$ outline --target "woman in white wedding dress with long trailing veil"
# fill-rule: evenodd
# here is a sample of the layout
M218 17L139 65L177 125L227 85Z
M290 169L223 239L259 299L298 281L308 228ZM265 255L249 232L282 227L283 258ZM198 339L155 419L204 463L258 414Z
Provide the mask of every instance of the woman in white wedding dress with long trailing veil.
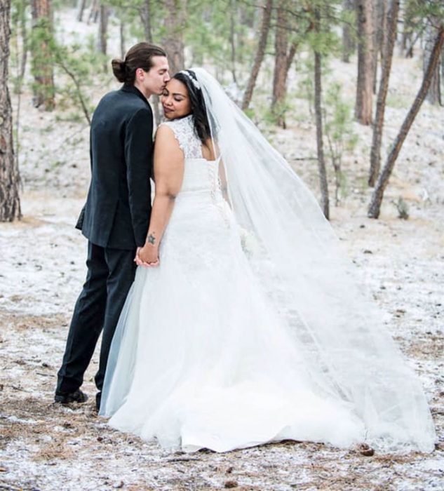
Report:
M204 69L161 97L147 243L100 415L166 448L431 452L417 377L314 196Z

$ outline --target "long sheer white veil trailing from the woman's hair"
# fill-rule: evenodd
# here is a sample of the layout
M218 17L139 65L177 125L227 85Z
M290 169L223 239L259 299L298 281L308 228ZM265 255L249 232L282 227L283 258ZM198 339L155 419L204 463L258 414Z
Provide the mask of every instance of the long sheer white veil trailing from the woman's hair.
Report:
M361 291L311 191L202 68L203 90L228 196L250 264L330 394L353 403L377 448L434 448L415 373Z

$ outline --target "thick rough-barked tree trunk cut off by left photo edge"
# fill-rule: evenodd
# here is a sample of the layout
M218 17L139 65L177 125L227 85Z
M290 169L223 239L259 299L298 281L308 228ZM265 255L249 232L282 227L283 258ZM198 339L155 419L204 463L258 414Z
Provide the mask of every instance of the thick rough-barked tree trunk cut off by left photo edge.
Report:
M13 116L8 90L11 0L0 0L0 222L22 216L18 185L20 175L14 159Z

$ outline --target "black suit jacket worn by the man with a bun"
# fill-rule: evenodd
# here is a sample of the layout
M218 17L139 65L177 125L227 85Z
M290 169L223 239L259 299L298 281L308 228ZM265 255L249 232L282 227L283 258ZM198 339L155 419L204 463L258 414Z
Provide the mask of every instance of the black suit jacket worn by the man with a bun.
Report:
M91 183L76 224L90 242L135 249L144 245L151 213L153 116L135 86L107 93L90 129Z

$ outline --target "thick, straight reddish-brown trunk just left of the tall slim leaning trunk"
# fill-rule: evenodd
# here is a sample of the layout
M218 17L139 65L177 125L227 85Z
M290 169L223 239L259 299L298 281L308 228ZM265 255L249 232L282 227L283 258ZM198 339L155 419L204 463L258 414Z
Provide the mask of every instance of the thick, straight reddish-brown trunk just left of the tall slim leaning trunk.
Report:
M373 97L373 0L356 0L358 17L358 80L355 117L359 123L372 122Z

